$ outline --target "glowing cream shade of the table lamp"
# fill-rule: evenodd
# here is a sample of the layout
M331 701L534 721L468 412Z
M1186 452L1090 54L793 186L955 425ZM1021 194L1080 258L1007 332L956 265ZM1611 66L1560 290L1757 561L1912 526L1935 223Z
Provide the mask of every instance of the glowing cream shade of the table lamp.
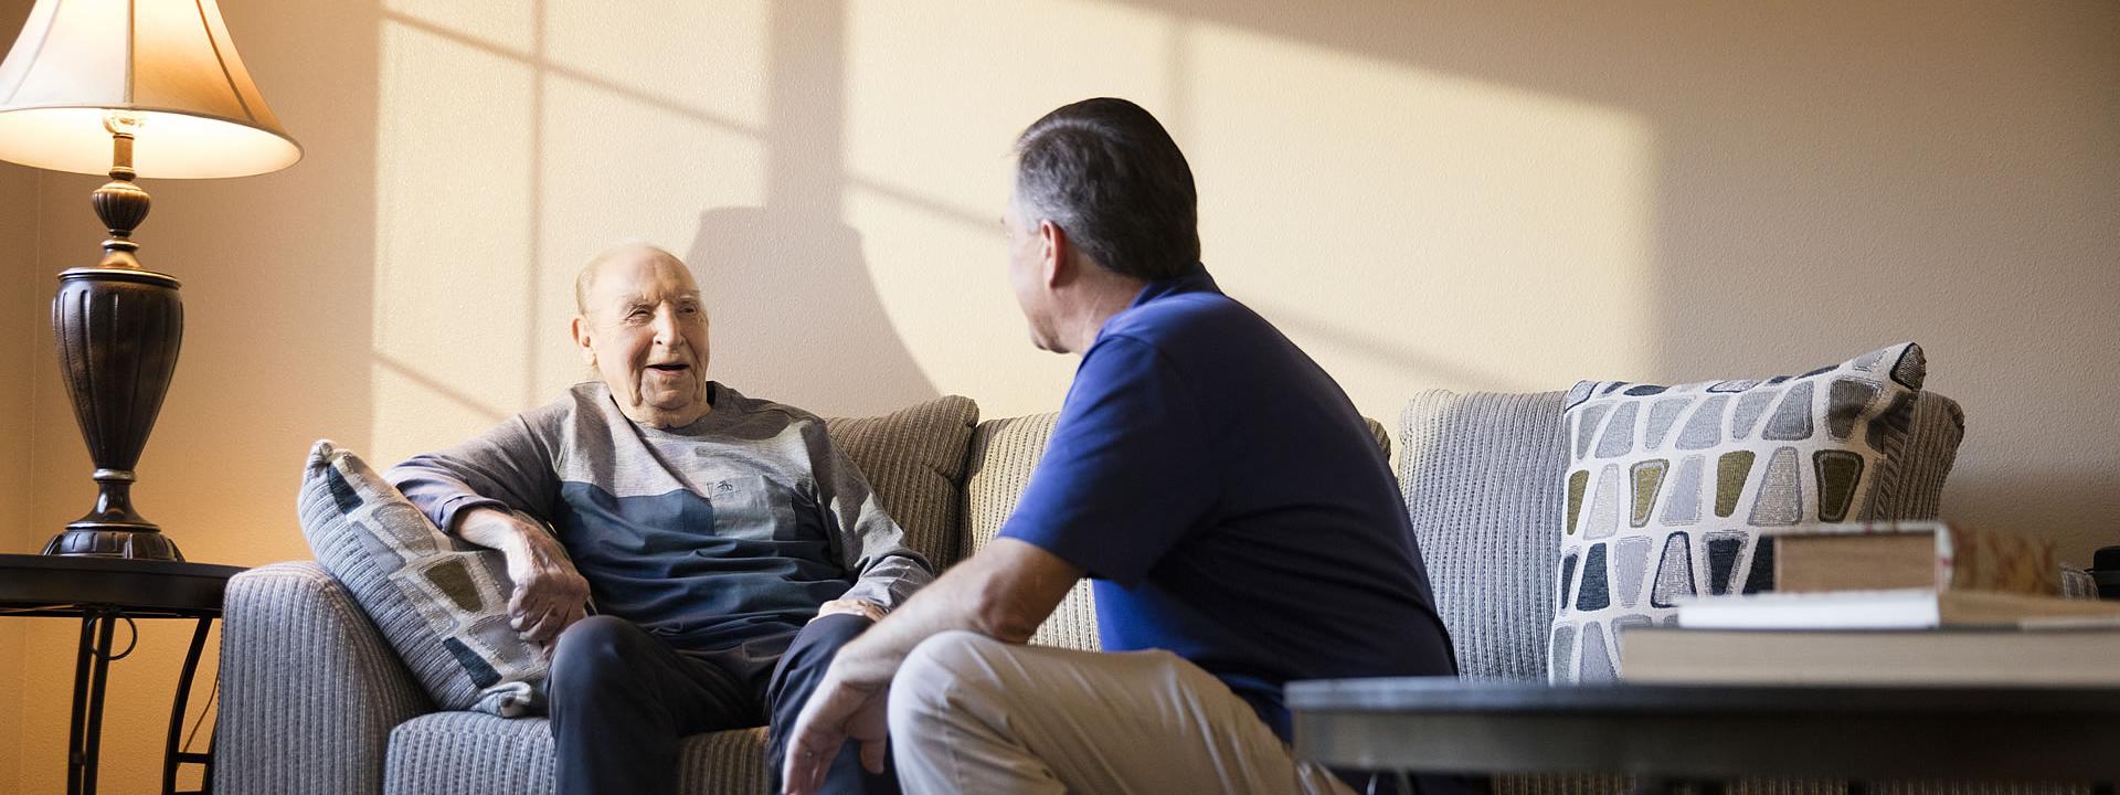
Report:
M0 159L110 172L112 114L138 176L278 172L301 159L214 0L36 0L0 61Z

